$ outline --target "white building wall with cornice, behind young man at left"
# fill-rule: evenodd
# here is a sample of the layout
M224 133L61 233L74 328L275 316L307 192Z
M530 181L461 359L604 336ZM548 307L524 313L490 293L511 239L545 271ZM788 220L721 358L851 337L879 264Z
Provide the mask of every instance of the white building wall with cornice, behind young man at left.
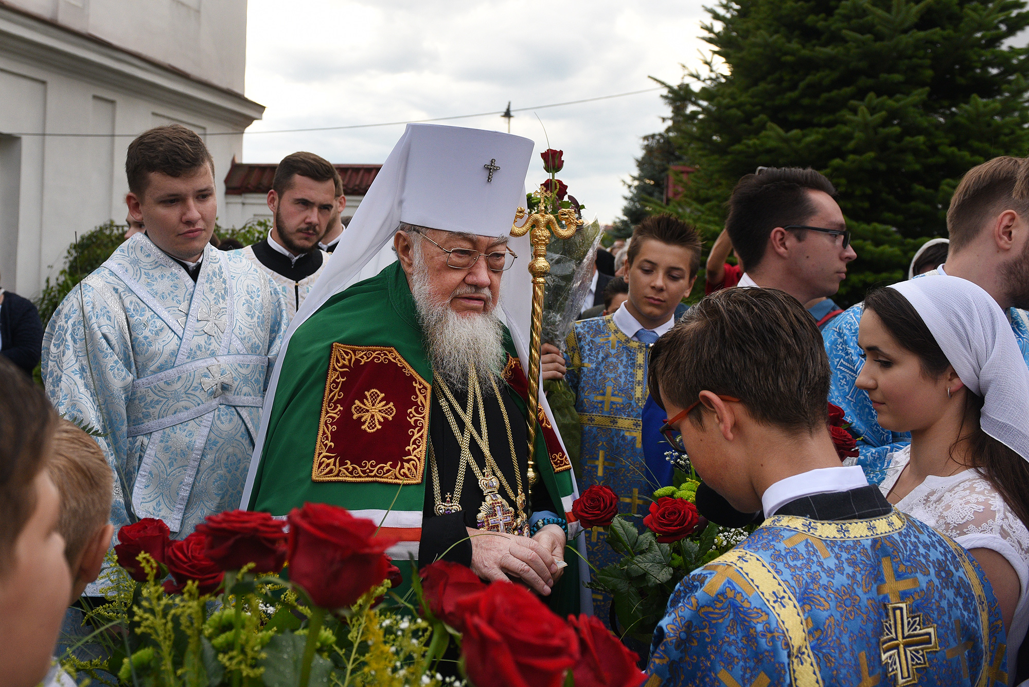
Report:
M101 5L151 2L164 0L95 0L91 16ZM205 0L204 9L215 5ZM180 121L204 135L224 208L225 172L242 157L243 137L218 134L243 131L262 111L238 94L0 6L0 285L37 296L76 232L125 221L126 149L155 124ZM38 133L117 137L25 135Z

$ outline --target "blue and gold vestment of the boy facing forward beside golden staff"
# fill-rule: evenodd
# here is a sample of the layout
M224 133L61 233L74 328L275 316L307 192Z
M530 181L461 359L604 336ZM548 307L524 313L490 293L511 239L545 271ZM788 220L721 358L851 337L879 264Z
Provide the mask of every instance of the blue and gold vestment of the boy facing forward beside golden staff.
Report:
M643 456L643 407L649 346L626 336L611 316L579 320L568 335L566 379L575 392L582 425L579 492L594 484L618 495L623 513L643 514L650 495L669 483L671 465L662 457L647 465ZM620 557L607 545L605 533L587 533L590 563L609 566ZM594 613L608 621L611 599L594 592Z

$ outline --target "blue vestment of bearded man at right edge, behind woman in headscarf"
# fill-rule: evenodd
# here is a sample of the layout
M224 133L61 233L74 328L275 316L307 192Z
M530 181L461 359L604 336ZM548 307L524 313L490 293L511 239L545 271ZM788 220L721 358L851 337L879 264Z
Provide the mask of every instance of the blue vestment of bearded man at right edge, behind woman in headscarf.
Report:
M854 436L861 437L857 442L860 451L857 465L864 468L864 474L871 483L879 484L886 477L888 456L911 443L911 435L880 427L876 410L868 400L868 393L855 386L857 375L864 366L861 347L857 345L862 312L861 303L850 306L822 331L822 338L832 372L829 401L843 408L847 420L853 423L850 431ZM1022 356L1029 365L1029 314L1009 308L1007 318L1012 323L1015 340L1019 342Z

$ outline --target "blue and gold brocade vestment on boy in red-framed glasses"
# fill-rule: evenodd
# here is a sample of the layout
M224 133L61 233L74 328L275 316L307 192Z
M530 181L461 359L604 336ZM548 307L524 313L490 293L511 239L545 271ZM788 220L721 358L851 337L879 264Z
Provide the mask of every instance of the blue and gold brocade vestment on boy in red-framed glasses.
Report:
M894 510L767 519L676 587L645 684L993 687L1006 671L982 569Z

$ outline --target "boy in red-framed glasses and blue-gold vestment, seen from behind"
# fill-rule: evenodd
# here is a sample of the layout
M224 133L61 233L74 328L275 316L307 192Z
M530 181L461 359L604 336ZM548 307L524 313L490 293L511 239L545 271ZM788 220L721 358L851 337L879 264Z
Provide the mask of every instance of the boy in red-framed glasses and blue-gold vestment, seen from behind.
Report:
M736 509L768 519L678 584L647 687L1007 684L982 569L840 465L828 361L795 298L705 298L654 346L648 383L675 448Z

